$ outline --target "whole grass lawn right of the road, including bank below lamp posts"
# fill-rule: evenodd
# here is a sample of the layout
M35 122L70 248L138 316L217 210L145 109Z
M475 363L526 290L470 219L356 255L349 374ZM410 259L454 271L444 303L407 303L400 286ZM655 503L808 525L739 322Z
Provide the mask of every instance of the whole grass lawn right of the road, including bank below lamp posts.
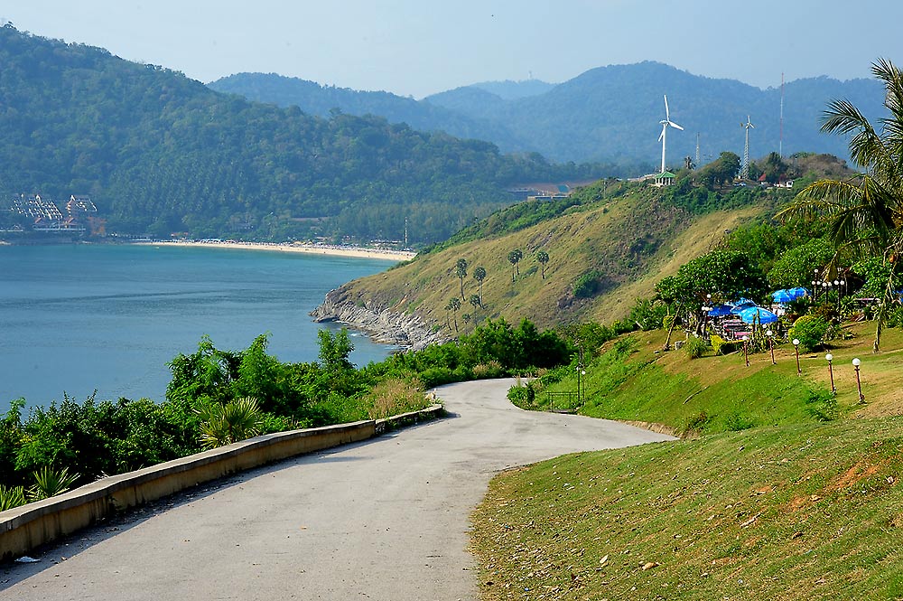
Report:
M903 599L903 334L876 355L850 332L836 397L824 352L798 377L790 345L746 367L634 334L591 362L582 412L702 436L499 474L472 517L482 597Z

